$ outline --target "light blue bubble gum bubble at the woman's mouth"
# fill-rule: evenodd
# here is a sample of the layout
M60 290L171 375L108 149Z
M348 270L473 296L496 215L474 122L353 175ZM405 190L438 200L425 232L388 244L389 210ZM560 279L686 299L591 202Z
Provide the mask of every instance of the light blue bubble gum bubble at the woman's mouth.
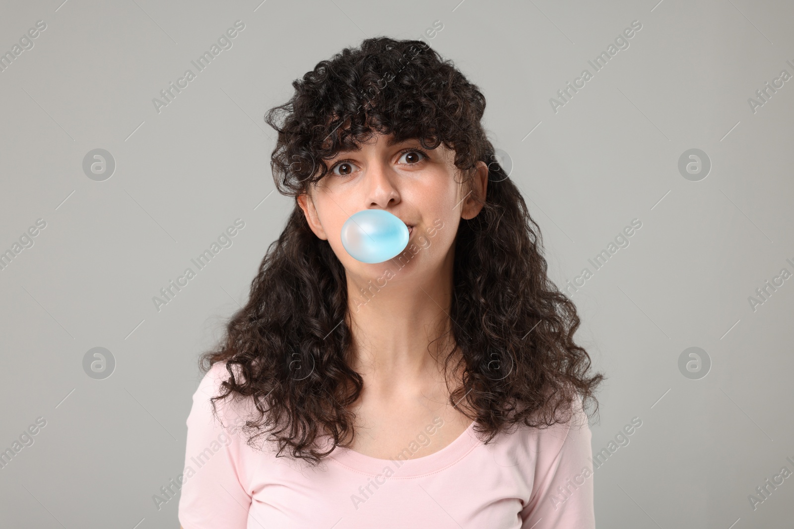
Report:
M383 209L353 213L341 232L342 246L361 263L383 263L405 250L408 227Z

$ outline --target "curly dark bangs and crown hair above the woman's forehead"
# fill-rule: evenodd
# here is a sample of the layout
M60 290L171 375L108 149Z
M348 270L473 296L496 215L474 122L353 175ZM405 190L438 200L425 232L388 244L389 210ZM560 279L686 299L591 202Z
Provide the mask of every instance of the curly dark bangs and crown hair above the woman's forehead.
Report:
M432 150L443 143L460 169L474 167L488 150L484 96L418 40L364 40L292 85L293 98L266 116L279 135L271 167L282 194L305 192L328 173L326 160L359 150L376 134L390 136L390 145L418 140Z

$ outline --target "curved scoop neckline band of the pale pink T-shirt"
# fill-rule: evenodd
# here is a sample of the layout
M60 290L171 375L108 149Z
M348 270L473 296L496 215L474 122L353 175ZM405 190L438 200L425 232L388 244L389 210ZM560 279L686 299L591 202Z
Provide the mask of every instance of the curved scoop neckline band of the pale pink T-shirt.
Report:
M387 468L391 469L395 478L417 477L426 473L437 472L457 462L468 454L474 447L481 443L474 431L476 420L458 435L446 447L433 454L423 455L421 458L412 459L381 459L361 454L346 447L334 447L329 458L342 466L356 470L360 473L376 476L382 474Z

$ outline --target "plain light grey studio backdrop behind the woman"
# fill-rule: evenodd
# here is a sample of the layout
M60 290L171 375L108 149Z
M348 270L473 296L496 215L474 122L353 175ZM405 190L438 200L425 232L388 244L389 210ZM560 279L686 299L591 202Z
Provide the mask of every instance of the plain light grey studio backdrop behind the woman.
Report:
M152 496L183 469L197 355L245 302L292 202L274 192L264 112L291 81L365 36L429 40L488 98L485 122L541 225L558 285L637 218L642 228L572 294L577 334L609 376L594 452L642 419L595 471L598 527L792 527L794 75L791 2L3 2L0 449L47 421L0 470L2 527L178 527ZM152 98L241 20L245 29L157 113ZM634 20L642 29L570 102L565 87ZM530 133L531 131L531 133ZM83 173L88 151L111 178ZM700 148L711 172L678 171ZM157 312L152 297L241 218L245 228ZM114 373L83 371L93 347ZM705 378L678 368L688 347ZM476 486L476 484L472 484Z

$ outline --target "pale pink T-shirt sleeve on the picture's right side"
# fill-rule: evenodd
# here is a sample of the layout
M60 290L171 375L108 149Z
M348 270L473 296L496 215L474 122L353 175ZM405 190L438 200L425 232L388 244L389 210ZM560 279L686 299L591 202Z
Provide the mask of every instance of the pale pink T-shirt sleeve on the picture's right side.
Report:
M556 429L539 434L545 439L538 443L539 464L530 501L521 512L522 529L595 529L592 432L581 401L565 428L562 446L550 455L555 439L559 446Z

